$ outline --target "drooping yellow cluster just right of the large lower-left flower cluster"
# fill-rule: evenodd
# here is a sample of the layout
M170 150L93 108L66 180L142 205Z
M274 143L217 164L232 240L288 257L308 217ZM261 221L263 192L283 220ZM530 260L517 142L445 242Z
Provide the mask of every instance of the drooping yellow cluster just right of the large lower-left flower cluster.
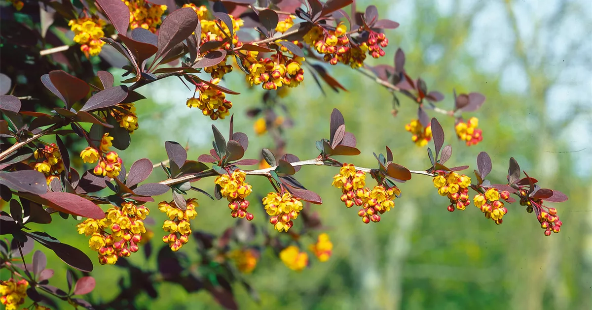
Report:
M183 244L189 241L189 235L191 234L191 220L197 216L197 208L199 204L197 199L190 198L186 200L185 210L177 207L175 201L162 201L158 204L158 210L166 213L169 217L162 225L162 229L169 234L162 237L162 241L169 244L169 247L173 251L181 249Z

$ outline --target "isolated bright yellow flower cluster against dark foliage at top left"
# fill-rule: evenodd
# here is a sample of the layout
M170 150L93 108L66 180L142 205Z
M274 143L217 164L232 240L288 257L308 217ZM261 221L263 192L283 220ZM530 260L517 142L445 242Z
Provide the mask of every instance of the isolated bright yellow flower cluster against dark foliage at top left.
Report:
M80 50L87 57L101 53L101 47L105 44L101 41L101 38L105 37L105 21L96 17L83 17L71 19L68 25L74 32L74 42L81 45Z

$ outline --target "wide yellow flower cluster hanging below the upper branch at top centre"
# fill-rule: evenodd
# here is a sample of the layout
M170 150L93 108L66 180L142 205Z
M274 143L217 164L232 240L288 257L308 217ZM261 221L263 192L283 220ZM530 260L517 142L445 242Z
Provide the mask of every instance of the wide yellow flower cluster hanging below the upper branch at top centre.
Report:
M258 52L241 51L243 66L249 70L247 82L253 85L261 84L263 89L276 90L282 86L296 87L304 80L304 70L301 68L303 57L289 58L284 54L273 54L271 58L260 58Z

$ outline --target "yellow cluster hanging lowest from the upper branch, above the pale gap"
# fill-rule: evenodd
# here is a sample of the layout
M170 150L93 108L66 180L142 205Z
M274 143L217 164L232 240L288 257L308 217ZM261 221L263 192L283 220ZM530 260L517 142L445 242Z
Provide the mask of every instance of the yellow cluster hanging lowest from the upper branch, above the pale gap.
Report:
M218 84L220 79L213 79L210 83ZM224 119L230 115L229 110L232 103L226 100L226 94L220 90L201 82L195 85L195 92L200 95L197 98L191 97L187 99L188 107L197 107L204 115L210 116L212 120Z

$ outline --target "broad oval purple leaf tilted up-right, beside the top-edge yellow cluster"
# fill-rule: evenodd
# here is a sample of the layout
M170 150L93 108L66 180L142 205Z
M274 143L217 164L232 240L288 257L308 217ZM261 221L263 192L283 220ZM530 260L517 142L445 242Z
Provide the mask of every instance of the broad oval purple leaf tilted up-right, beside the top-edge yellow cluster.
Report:
M189 37L197 27L197 23L197 14L191 8L181 8L170 13L160 25L156 58L165 55L172 47Z

